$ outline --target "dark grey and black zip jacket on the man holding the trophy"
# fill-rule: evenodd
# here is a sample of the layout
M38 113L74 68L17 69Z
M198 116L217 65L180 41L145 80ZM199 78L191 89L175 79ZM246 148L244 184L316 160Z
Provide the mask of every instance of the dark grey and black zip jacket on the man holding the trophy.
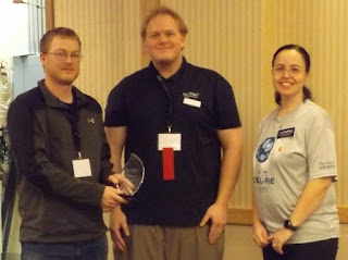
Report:
M21 242L70 243L105 233L100 207L112 164L99 103L73 87L74 110L46 88L20 95L10 106L8 127L18 173ZM76 116L72 116L73 111ZM71 120L70 120L70 119ZM76 122L73 127L72 119ZM74 177L73 132L92 176ZM76 140L76 139L75 139Z

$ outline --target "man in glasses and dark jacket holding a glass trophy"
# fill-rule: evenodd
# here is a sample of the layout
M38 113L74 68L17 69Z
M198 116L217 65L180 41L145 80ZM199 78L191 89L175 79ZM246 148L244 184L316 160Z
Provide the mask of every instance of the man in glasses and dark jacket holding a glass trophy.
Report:
M102 110L73 82L79 73L80 40L70 28L40 41L45 79L20 95L8 114L18 173L22 259L91 259L108 256L102 208L126 202L105 184L112 174Z

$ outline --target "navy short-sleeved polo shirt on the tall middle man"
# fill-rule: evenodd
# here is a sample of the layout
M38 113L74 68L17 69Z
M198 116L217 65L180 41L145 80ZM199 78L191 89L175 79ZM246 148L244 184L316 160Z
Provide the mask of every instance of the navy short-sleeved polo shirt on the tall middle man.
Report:
M128 224L196 226L217 195L221 144L216 129L240 126L231 85L214 71L183 59L179 71L163 83L172 100L172 133L182 134L174 152L175 179L163 181L158 134L167 132L169 99L152 63L111 90L105 126L126 126L125 158L136 153L145 182L128 205ZM197 100L199 106L184 103Z

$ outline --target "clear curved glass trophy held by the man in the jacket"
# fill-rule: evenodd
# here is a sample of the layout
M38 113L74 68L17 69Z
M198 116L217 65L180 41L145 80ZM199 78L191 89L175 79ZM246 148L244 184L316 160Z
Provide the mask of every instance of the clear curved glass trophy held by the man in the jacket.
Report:
M128 178L134 185L132 193L129 193L126 187L123 187L122 184L119 186L119 188L125 193L122 197L130 199L139 190L144 182L145 168L141 159L135 153L130 153L130 157L122 169L121 174Z

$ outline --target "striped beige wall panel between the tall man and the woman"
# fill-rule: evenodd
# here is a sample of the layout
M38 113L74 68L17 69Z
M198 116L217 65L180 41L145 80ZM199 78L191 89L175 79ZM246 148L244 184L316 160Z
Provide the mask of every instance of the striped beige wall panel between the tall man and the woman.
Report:
M235 91L245 158L231 207L250 208L252 153L262 112L262 15L254 0L165 0L188 26L185 57L222 74Z

